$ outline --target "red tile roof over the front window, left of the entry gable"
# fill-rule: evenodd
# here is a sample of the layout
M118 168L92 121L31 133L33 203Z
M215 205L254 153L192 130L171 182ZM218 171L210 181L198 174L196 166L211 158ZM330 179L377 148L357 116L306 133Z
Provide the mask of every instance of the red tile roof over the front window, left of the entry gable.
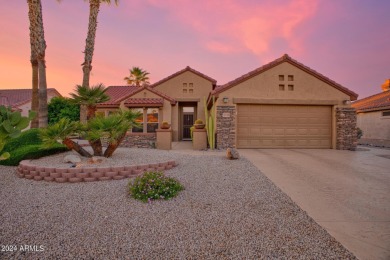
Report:
M148 90L158 96L160 96L163 99L168 100L172 105L176 104L176 100L165 95L164 93L151 88L150 86L143 86L143 87L137 87L137 86L109 86L106 90L106 94L110 97L110 100L104 103L98 104L98 107L119 107L120 103L123 100L125 101L126 104L135 104L135 100L140 100L142 102L154 102L151 100L151 98L148 98L147 100L145 99L140 99L140 98L132 98L132 101L128 102L128 99L130 99L131 96L143 91L143 90ZM158 99L160 100L160 99ZM150 103L144 103L144 104L150 104ZM155 103L155 104L160 104L160 103Z

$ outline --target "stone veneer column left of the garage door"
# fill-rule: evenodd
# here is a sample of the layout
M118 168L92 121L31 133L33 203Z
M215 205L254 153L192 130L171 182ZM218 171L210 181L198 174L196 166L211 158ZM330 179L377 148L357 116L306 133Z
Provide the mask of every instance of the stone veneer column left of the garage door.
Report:
M217 148L236 147L236 107L217 106Z

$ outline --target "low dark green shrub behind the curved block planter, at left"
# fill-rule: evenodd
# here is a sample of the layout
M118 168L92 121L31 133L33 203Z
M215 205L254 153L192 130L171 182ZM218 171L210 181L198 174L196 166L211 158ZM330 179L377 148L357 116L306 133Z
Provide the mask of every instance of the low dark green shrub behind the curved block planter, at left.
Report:
M22 160L38 159L57 153L69 151L64 145L55 144L50 148L43 148L41 144L24 145L16 150L11 150L11 157L7 160L0 161L1 165L17 166Z

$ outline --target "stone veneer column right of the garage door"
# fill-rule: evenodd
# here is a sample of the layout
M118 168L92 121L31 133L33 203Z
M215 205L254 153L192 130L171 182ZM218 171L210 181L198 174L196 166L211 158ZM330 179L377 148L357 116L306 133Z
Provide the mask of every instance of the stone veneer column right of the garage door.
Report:
M336 149L354 151L357 145L355 109L336 108L336 127Z

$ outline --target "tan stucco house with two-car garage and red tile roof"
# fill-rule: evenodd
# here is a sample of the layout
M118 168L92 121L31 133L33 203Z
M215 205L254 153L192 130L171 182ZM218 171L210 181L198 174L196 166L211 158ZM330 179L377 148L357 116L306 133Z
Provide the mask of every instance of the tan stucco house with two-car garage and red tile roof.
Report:
M356 147L350 104L358 95L287 54L225 85L186 67L150 86L110 86L106 93L111 99L97 113L143 113L143 129L133 129L125 145L148 146L162 121L171 123L173 141L189 140L206 101L208 110L215 106L220 149Z

